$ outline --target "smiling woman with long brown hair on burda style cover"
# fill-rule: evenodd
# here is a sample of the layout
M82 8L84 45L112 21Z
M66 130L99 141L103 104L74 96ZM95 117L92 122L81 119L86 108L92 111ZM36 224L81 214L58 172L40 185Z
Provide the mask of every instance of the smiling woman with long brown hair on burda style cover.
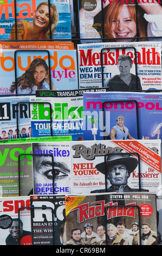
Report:
M44 59L37 58L31 62L25 73L17 78L17 94L35 94L36 90L56 90L53 82L49 80L49 68ZM11 92L16 87L11 86Z

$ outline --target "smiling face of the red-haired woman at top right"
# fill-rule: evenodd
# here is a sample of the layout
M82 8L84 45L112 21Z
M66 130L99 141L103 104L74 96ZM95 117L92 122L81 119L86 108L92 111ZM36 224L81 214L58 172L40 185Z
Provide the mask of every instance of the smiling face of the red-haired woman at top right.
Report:
M117 19L113 19L112 29L111 29L113 38L119 38L116 41L119 42L129 42L134 39L124 39L124 38L134 38L137 34L136 23L131 18L131 13L127 6L122 7L119 16Z

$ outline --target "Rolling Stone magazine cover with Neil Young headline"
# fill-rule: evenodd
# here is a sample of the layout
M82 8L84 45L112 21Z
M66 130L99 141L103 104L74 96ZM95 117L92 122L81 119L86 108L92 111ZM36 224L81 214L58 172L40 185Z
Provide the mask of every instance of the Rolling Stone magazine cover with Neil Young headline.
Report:
M72 193L159 192L161 140L70 142Z

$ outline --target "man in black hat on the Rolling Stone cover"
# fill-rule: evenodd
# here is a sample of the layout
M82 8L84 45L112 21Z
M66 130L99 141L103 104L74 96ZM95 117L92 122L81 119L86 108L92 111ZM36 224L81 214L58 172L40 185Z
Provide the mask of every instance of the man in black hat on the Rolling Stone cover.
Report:
M138 188L131 188L127 185L127 180L133 170L137 168L138 160L128 154L113 153L106 157L106 161L96 164L96 169L106 175L111 183L111 187L107 190L95 190L92 193L98 192L134 192L139 191ZM141 189L140 191L147 191Z

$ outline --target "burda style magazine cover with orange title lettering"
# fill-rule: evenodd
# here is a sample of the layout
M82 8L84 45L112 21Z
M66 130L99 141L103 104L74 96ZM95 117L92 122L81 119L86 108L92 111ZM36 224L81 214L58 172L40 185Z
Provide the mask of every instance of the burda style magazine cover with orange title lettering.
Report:
M3 43L1 95L30 95L36 90L77 89L76 50L67 43ZM66 84L66 86L65 86Z

